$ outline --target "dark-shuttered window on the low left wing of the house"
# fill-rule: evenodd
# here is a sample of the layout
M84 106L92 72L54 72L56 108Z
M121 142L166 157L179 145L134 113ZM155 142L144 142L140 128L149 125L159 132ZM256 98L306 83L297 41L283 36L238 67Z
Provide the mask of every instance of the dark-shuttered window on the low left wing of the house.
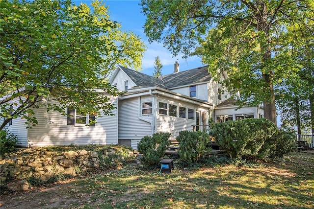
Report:
M78 109L68 108L67 125L87 126L91 121L95 121L95 116L83 114ZM90 126L95 126L95 123Z

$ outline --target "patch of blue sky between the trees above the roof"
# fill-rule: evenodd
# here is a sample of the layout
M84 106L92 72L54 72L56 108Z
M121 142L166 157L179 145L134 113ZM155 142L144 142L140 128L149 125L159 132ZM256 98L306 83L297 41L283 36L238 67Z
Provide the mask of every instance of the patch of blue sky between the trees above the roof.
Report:
M73 0L75 4L80 2L90 5L91 0ZM178 61L180 71L189 70L203 66L201 59L197 56L183 59L182 56L173 57L170 51L163 47L162 43L149 44L148 39L144 34L144 23L146 16L141 13L139 0L106 0L105 5L109 6L110 20L117 21L121 24L122 30L132 31L134 34L141 37L142 41L147 46L147 50L142 59L142 72L152 75L154 72L155 57L159 56L163 65L161 73L163 75L173 72L173 64Z

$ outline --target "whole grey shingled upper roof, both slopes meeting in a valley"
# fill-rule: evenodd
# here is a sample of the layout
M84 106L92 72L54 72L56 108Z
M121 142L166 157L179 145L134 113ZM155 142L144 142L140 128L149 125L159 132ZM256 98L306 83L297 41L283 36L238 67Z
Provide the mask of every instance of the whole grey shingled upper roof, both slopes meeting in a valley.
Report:
M211 79L211 75L208 72L208 66L163 75L158 78L120 65L119 68L123 70L136 84L136 87L133 87L132 89L154 86L163 89L172 89L180 86L209 82Z

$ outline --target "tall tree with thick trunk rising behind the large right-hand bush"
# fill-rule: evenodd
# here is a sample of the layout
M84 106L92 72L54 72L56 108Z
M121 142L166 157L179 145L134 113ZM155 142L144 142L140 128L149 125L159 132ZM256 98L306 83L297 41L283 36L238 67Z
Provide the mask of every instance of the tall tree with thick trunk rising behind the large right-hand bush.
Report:
M276 124L275 89L298 68L289 54L290 30L313 21L313 0L142 0L149 41L163 41L175 55L197 50L213 75L226 71L223 84L239 90L243 102L263 103ZM287 35L289 35L287 37ZM284 39L285 37L285 39Z

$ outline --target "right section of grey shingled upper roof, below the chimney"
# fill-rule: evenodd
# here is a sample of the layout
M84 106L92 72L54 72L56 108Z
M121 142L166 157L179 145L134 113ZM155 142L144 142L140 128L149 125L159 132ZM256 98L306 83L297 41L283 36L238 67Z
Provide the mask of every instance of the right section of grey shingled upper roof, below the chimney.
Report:
M208 66L203 66L178 73L163 75L159 78L165 83L166 89L172 89L179 86L209 82L211 75L208 72Z

